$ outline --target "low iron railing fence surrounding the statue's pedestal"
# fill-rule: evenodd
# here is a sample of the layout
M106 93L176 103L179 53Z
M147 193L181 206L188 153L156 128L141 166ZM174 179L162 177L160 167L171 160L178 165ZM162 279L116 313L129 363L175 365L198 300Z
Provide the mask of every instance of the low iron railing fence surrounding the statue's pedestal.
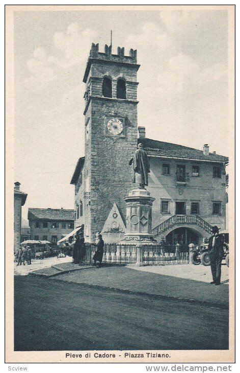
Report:
M88 248L86 261L93 262L93 255L97 247L93 244L86 243ZM142 245L142 263L151 264L188 264L189 247L181 246L176 250L176 246L163 248L162 245ZM88 258L87 258L88 257ZM91 257L91 258L90 258ZM137 262L136 245L104 244L102 263L105 264L134 264Z

